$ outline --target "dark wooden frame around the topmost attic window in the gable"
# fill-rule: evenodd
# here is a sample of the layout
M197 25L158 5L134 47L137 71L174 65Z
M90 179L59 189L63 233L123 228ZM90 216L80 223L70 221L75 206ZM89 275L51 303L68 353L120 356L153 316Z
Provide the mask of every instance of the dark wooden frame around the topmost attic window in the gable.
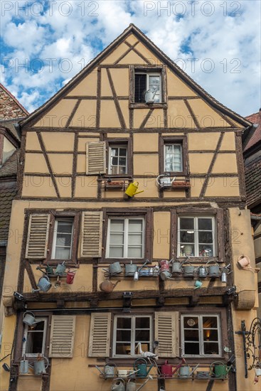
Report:
M135 102L135 73L157 73L161 75L161 102L139 103ZM167 108L166 65L129 65L129 109Z

